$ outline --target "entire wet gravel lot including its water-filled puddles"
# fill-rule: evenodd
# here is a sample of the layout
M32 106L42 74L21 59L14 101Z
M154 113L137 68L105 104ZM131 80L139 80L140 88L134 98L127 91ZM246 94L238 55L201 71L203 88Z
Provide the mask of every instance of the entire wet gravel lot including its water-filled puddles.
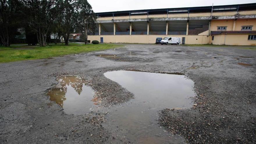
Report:
M127 44L1 63L0 143L255 143L255 57L246 47Z

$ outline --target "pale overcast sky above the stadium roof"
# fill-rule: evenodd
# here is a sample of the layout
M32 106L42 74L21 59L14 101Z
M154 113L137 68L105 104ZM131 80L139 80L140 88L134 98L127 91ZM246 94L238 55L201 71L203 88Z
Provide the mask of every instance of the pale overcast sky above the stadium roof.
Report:
M157 8L182 8L194 6L214 6L255 3L255 0L88 0L95 13L143 10Z

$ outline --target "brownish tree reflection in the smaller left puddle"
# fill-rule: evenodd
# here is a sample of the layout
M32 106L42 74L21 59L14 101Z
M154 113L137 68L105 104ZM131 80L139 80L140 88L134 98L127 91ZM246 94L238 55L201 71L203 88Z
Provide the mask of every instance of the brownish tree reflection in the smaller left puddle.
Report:
M63 101L66 100L67 86L71 86L80 95L85 81L80 77L59 77L57 78L61 84L61 88L54 88L48 92L51 101L55 101L58 105L63 107Z

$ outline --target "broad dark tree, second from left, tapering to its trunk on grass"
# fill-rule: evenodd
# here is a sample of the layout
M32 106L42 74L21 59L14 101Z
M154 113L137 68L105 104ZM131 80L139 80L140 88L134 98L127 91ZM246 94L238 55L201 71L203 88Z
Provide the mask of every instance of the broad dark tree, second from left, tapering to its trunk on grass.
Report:
M47 35L59 13L58 0L22 0L28 16L28 24L35 31L39 45L46 46Z

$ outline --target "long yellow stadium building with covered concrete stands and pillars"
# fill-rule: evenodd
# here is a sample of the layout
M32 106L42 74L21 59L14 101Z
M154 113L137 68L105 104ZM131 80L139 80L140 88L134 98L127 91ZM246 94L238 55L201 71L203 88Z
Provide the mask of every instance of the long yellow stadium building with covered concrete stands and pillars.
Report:
M256 45L256 3L97 13L88 40L155 43L180 37L182 44Z

